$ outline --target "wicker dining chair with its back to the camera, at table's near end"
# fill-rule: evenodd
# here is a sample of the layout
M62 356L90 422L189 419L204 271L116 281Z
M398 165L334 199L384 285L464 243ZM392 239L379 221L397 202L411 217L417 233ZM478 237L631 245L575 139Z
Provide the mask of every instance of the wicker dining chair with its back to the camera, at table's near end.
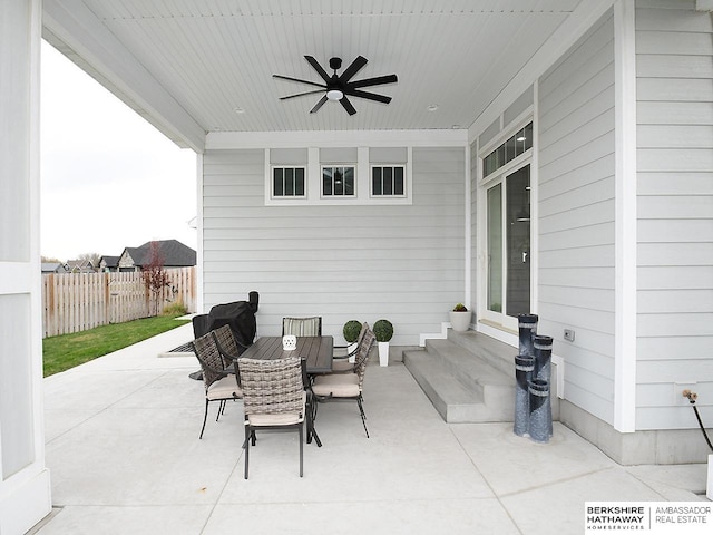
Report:
M255 431L293 428L300 434L300 477L303 475L303 442L306 392L305 362L299 357L277 360L238 360L245 410L245 469L247 479L250 446Z

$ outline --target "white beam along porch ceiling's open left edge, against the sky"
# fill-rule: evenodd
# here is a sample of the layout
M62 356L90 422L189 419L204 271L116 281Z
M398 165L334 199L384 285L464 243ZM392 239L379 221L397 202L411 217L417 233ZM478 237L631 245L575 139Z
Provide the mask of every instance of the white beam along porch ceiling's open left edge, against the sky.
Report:
M203 127L84 2L45 0L42 27L48 42L166 137L182 148L203 152Z

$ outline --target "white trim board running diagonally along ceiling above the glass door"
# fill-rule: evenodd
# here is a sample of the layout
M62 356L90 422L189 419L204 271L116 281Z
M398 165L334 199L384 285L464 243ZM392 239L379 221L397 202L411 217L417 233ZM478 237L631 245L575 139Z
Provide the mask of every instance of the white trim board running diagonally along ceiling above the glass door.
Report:
M472 142L500 114L557 61L614 4L614 0L583 0L567 20L535 52L533 58L468 128Z

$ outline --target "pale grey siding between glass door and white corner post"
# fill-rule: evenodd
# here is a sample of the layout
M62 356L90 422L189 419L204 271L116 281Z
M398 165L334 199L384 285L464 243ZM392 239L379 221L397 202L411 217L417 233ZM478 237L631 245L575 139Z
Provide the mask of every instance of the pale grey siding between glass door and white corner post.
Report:
M565 398L613 422L614 23L605 16L539 80L539 332ZM575 342L563 339L575 331Z

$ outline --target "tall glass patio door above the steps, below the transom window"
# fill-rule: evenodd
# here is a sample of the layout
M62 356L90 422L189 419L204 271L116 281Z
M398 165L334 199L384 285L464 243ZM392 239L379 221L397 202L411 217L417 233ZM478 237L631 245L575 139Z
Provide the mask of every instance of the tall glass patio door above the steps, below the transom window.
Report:
M530 166L525 165L487 188L487 313L516 328L530 312Z

